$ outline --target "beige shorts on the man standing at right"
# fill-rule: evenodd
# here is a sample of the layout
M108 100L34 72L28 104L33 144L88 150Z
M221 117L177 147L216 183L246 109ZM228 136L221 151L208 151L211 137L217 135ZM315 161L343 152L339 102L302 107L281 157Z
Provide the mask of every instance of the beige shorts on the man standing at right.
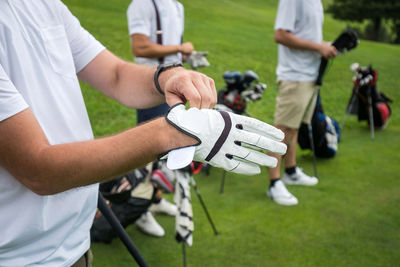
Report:
M314 82L279 81L274 115L275 125L298 129L301 121L311 122L317 100ZM310 100L312 98L312 102ZM307 114L304 113L307 110Z

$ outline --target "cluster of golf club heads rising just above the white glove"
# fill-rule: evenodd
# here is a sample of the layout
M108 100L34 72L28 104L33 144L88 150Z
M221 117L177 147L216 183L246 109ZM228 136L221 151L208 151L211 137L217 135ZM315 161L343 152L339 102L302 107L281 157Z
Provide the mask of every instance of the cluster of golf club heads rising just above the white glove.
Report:
M227 110L236 114L246 114L247 102L261 99L267 86L258 83L258 75L254 71L226 71L222 75L225 87L218 91L218 110Z

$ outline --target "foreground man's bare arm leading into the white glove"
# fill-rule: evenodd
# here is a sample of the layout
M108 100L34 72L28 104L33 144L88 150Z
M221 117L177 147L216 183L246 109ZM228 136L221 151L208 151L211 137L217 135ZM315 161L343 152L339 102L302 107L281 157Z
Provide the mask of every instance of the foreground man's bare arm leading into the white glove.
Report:
M110 137L50 145L30 109L1 121L0 136L0 165L40 195L105 181L196 143L160 118Z

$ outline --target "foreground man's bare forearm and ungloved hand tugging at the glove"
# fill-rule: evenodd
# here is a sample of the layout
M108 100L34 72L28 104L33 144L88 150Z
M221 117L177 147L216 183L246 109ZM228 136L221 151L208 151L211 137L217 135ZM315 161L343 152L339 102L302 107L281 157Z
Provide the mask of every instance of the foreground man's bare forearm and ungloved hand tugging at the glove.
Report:
M131 108L148 108L165 101L170 106L189 101L190 106L198 108L216 104L214 81L206 75L182 67L168 69L159 76L164 96L155 88L155 70L156 67L126 62L105 50L78 77Z

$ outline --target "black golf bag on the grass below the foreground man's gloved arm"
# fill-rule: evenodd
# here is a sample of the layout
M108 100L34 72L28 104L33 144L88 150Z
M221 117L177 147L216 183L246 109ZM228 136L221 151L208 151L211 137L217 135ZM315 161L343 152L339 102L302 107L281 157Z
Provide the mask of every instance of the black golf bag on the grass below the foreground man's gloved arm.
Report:
M99 193L107 200L124 228L134 223L152 203L152 199L131 196L132 190L142 183L147 175L147 169L136 169L122 177L100 184ZM92 242L110 243L117 234L101 212L97 211L90 236Z

